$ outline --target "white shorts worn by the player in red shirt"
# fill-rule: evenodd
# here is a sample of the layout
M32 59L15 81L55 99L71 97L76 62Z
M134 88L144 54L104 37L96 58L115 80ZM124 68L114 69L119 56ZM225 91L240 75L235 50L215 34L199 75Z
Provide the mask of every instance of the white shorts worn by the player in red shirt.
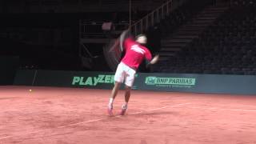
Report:
M136 70L130 68L126 64L120 62L118 69L114 74L114 81L123 83L125 81L126 86L133 86Z

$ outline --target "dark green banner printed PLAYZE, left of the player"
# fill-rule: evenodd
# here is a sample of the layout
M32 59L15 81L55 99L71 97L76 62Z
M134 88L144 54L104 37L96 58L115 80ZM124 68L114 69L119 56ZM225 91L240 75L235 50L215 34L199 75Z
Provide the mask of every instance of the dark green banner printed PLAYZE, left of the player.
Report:
M114 74L106 72L75 72L38 70L35 86L68 86L110 89Z

